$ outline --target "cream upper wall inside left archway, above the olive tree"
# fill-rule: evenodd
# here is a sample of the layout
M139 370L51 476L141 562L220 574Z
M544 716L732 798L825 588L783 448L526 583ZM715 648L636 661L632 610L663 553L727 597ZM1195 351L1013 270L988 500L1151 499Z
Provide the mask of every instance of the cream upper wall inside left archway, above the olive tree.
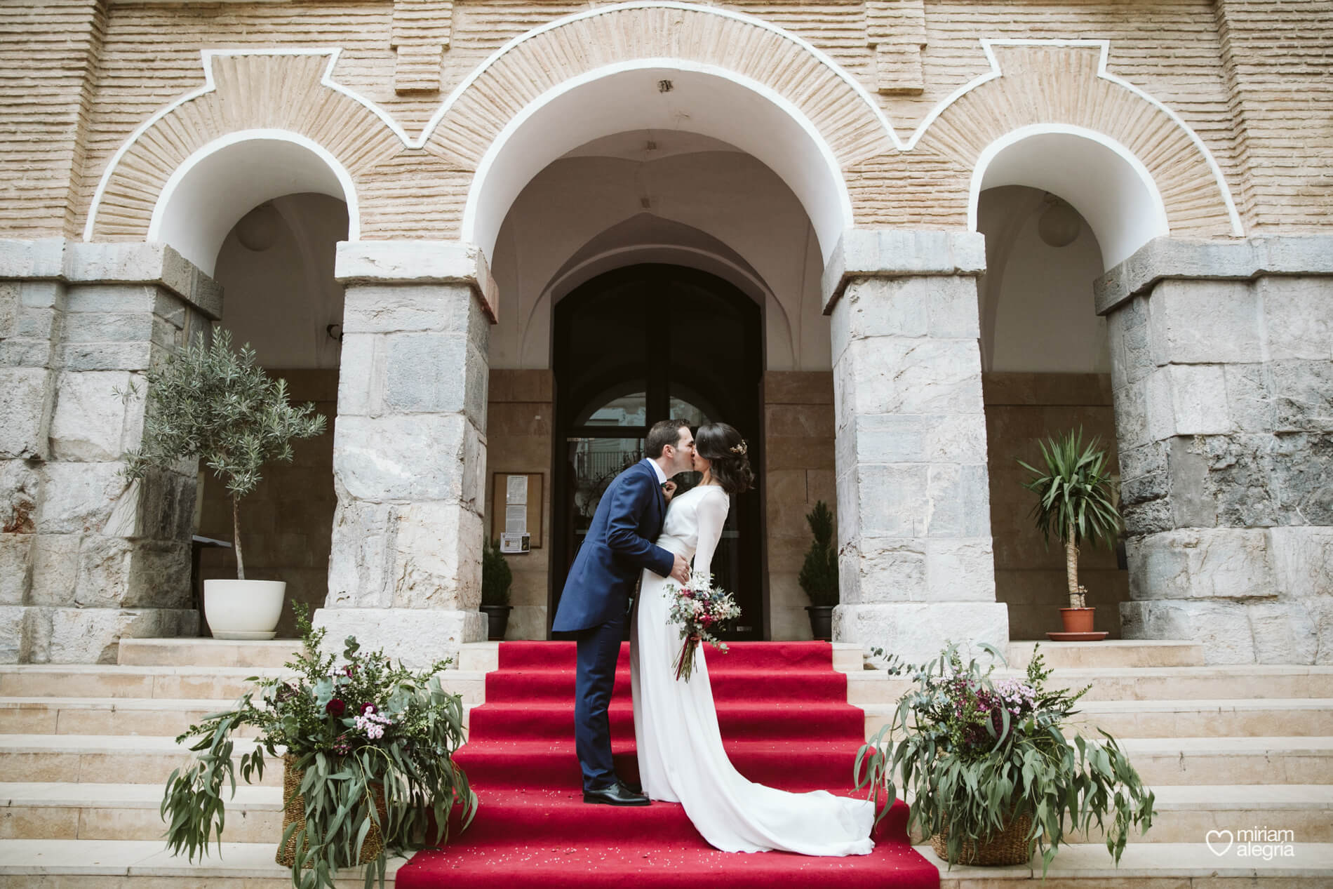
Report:
M327 195L272 201L273 243L252 251L228 232L215 277L223 285L223 327L235 345L249 343L265 368L339 365L339 343L325 329L343 323L343 285L333 280L336 245L347 240L347 204Z

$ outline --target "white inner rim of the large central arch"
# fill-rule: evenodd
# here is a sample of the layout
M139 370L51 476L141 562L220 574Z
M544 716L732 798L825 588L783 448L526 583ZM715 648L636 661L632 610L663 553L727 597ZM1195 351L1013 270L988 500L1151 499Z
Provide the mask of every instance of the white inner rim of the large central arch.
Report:
M682 4L676 4L682 5ZM552 101L564 96L575 89L584 87L587 84L603 80L605 77L612 77L620 73L631 71L644 71L649 68L674 68L677 71L689 71L693 73L709 75L713 77L720 77L722 80L729 80L742 89L748 89L762 99L768 100L778 111L785 113L792 119L806 137L814 144L816 149L820 152L820 157L824 161L828 176L837 189L838 199L838 213L842 217L842 229L852 228L854 224L854 215L852 211L852 195L848 192L846 180L842 177L842 167L837 161L837 156L833 155L833 149L824 140L824 135L817 127L804 115L801 109L790 103L785 96L770 89L765 84L752 80L734 71L721 68L718 65L712 65L701 61L690 61L685 59L635 59L629 61L617 61L609 65L603 65L601 68L595 68L587 71L577 77L571 77L563 80L547 92L541 93L531 103L523 107L513 117L511 117L504 129L501 129L491 144L487 147L487 153L483 155L481 163L477 164L477 169L472 173L472 184L468 187L468 200L463 208L463 225L459 231L459 239L467 244L475 244L476 241L476 224L477 224L477 209L481 200L481 193L485 191L485 183L489 177L491 168L495 165L496 160L504 152L505 145L509 140L527 124L527 121L541 111L544 107L549 105ZM705 133L706 135L706 133ZM553 160L553 159L552 159ZM792 188L788 183L788 188ZM793 189L794 193L794 189ZM797 195L800 200L800 195ZM802 201L804 207L804 201ZM809 208L805 208L806 215L809 215ZM813 225L813 220L812 220ZM497 232L499 233L499 229ZM836 239L834 239L836 243ZM483 247L479 244L479 247ZM485 249L485 248L484 248ZM495 251L495 244L492 243L489 249ZM833 243L828 245L828 251L833 249ZM821 249L821 255L828 259L828 251Z

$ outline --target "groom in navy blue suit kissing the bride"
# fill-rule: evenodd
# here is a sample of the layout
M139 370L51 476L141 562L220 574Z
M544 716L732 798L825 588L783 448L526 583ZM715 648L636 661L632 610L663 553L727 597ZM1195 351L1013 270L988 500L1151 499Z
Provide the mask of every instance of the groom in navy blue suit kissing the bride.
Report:
M616 685L616 660L625 608L644 568L684 584L689 562L653 544L666 517L663 484L690 468L694 436L685 420L663 420L648 431L648 454L616 476L575 557L551 629L575 632L579 672L575 680L575 750L584 774L584 802L648 805L629 790L611 761L607 708Z

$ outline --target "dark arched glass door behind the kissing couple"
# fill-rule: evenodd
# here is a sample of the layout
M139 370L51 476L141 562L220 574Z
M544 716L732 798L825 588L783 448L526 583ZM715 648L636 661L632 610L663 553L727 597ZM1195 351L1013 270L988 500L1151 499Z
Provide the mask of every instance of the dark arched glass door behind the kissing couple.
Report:
M601 275L555 309L556 454L549 621L565 576L607 485L644 457L657 420L697 431L726 421L762 466L758 389L760 308L726 281L676 265L635 265ZM676 477L677 493L698 481ZM732 498L713 557L714 582L744 612L728 638L764 630L758 492Z

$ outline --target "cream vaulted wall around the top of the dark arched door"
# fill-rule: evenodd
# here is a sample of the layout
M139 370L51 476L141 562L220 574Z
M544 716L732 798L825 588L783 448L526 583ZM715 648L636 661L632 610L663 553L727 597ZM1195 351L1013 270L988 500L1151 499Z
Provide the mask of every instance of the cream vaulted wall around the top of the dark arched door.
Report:
M645 148L649 140L656 149ZM491 332L491 367L549 368L548 288L557 272L597 235L644 213L704 232L757 273L769 291L768 369L829 369L829 327L820 311L822 260L800 201L749 155L692 133L657 131L620 133L576 149L515 200L492 264L500 324Z

